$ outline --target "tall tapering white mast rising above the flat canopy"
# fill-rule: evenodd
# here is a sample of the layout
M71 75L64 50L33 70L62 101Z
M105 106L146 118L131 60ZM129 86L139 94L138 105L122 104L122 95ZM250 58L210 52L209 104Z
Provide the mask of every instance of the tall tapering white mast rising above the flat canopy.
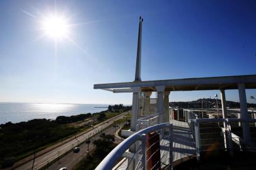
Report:
M142 28L143 28L143 18L139 16L139 34L138 34L138 42L137 42L135 81L141 81L141 31L142 31Z

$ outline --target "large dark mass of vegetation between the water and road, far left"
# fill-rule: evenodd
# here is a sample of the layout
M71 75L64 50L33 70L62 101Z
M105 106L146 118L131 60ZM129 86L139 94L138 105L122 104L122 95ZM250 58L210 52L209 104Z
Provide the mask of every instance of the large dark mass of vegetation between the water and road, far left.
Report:
M0 125L0 167L4 157L32 154L44 145L56 142L79 131L78 127L67 127L46 119Z

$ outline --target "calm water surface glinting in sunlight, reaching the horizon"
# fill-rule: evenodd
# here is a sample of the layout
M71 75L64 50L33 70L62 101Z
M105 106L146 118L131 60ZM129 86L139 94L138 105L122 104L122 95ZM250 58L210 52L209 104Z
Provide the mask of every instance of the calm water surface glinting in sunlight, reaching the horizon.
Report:
M0 103L0 124L23 122L35 118L55 119L57 116L96 113L107 110L98 104Z

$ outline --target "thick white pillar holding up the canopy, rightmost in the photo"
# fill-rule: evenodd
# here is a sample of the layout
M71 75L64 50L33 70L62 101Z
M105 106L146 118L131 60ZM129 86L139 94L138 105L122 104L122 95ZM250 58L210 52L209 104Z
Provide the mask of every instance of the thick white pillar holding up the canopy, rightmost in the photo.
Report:
M248 120L245 84L243 84L243 83L238 84L238 93L239 93L239 100L240 100L241 119ZM245 142L245 144L250 143L251 137L250 137L249 123L242 122L242 127L243 127L243 142Z

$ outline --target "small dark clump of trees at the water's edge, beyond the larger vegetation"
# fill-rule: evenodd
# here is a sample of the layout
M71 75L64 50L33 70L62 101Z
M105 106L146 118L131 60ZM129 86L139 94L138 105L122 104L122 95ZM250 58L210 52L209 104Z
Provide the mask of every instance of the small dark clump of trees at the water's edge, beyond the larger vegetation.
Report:
M67 124L67 123L79 122L90 117L91 117L91 113L74 115L74 116L57 116L55 122L59 124Z

